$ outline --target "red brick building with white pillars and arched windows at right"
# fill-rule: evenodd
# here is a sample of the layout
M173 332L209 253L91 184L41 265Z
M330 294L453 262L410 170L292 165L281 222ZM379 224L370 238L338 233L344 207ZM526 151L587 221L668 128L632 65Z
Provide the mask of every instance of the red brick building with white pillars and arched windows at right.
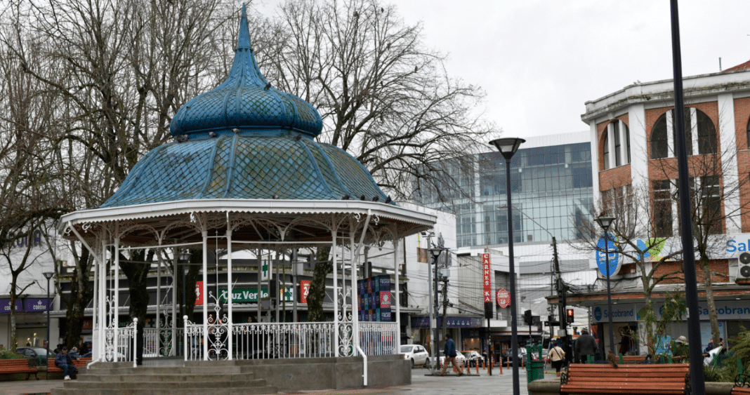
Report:
M750 245L750 69L740 64L720 73L689 76L684 79L685 130L688 137L688 166L698 215L711 213L715 219L706 229L713 244L709 249L710 270L715 290L721 337L733 337L740 325L750 328L750 256L740 255ZM604 97L586 102L581 119L589 125L592 142L593 191L596 202L606 205L612 199L623 202L647 196L643 238L663 238L664 245L655 256L664 256L679 248L679 207L674 148L673 81L637 82ZM634 190L646 191L645 194ZM697 196L697 197L695 197ZM606 206L605 206L606 207ZM614 206L610 206L614 207ZM606 208L605 208L606 209ZM599 209L601 210L601 209ZM611 210L610 210L611 211ZM614 210L616 211L616 210ZM708 214L706 214L708 213ZM625 214L610 212L615 217ZM676 256L676 259L680 259ZM650 261L649 261L650 262ZM630 262L632 263L632 262ZM670 260L657 274L679 271L682 262ZM666 291L679 289L682 277L677 273L655 288L655 308ZM617 333L625 327L637 330L638 312L643 306L640 273L636 265L621 262L610 277L613 286L613 326ZM598 275L596 292L573 295L569 304L580 304L592 312L592 328L607 340L606 285ZM710 328L706 310L703 271L697 268L700 294L701 338L708 342ZM602 292L601 289L604 289ZM705 313L704 313L705 312ZM671 336L687 335L687 325L670 328ZM608 340L607 340L608 341ZM604 347L607 349L608 346ZM634 345L634 352L638 346Z

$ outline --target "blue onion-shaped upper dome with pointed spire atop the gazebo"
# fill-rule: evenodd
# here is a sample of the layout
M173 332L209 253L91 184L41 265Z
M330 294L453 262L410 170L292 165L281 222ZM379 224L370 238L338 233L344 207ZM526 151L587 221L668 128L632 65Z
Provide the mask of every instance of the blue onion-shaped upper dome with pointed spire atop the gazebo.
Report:
M193 140L208 139L211 132L278 135L293 131L314 137L322 129L323 120L315 107L273 88L260 73L251 47L245 5L234 63L226 80L181 106L169 125L172 136L187 135Z

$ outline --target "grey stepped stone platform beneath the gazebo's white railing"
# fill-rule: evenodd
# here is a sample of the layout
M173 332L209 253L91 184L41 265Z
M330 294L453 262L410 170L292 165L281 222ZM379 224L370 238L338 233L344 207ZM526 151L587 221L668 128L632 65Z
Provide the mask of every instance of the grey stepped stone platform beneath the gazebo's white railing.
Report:
M93 364L77 380L52 395L91 394L277 394L290 391L365 388L362 357L182 361L145 359ZM371 386L410 385L411 369L402 355L368 357Z

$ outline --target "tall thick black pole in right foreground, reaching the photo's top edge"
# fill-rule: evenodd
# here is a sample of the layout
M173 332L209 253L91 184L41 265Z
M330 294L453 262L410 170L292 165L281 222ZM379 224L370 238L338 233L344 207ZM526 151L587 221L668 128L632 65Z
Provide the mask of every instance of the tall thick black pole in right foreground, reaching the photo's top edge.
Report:
M685 303L688 307L688 351L690 352L690 384L692 393L706 394L703 382L703 350L700 349L698 321L698 290L695 277L693 226L690 217L690 185L688 179L688 145L685 141L685 103L682 100L682 53L679 49L679 12L677 0L670 1L672 16L672 62L674 69L674 118L677 126L675 148L679 173L679 218L682 224L682 263L685 272Z

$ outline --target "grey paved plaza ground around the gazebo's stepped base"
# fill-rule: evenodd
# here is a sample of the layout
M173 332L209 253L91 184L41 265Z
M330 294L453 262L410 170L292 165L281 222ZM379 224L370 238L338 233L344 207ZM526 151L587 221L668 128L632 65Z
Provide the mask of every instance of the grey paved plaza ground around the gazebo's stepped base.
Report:
M513 378L511 371L503 370L499 374L495 369L492 376L487 371L480 370L479 376L472 371L472 376L456 376L455 373L441 376L427 376L430 371L425 369L412 370L412 385L400 385L389 388L365 388L362 390L338 390L338 391L302 391L283 394L317 395L317 394L372 394L372 395L435 395L435 394L513 394ZM520 395L528 395L526 391L526 371L519 372ZM545 378L554 377L554 373L545 373ZM371 383L371 385L376 385ZM0 382L0 395L20 394L49 394L52 388L62 388L62 380L22 380L17 382ZM178 394L176 391L175 394ZM282 393L280 393L282 394ZM83 395L83 394L82 394Z

